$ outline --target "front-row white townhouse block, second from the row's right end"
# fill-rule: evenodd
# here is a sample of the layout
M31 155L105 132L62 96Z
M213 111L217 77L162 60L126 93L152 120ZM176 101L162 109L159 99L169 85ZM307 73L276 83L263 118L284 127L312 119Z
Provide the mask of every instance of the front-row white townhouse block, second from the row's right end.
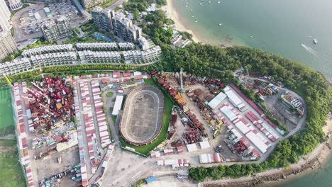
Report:
M82 64L98 63L98 64L118 64L121 62L120 52L117 51L79 51L79 59Z

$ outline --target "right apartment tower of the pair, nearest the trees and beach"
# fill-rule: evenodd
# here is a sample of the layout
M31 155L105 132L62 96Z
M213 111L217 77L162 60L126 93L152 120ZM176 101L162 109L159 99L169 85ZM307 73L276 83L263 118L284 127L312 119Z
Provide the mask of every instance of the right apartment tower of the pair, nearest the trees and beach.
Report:
M142 36L142 28L133 25L124 13L116 13L112 18L114 34L129 42L135 42Z

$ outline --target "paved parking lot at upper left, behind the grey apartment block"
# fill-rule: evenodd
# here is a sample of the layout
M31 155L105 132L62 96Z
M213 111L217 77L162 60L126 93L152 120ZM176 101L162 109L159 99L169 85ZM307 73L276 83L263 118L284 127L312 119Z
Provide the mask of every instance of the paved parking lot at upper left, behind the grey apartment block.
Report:
M49 12L46 13L44 8L49 8ZM82 18L71 1L48 4L48 6L45 6L45 4L36 4L18 11L12 19L16 42L28 38L43 37L40 26L58 16L65 16L68 18L71 25Z

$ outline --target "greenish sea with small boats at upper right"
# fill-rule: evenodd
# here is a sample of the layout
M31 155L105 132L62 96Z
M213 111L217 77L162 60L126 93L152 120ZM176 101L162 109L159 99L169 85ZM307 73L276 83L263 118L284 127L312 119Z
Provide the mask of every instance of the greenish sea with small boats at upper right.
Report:
M204 43L258 47L306 64L332 81L331 0L172 0L172 4L182 25Z

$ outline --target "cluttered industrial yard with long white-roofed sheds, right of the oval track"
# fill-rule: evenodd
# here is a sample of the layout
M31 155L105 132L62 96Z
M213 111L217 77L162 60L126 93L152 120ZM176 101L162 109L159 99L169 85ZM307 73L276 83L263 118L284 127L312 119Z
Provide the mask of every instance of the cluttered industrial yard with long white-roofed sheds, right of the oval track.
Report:
M185 127L182 138L173 140L172 146L187 145L188 152L197 152L196 143L206 138L208 141L216 139L211 147L223 150L221 154L225 154L225 160L237 158L248 161L260 159L263 155L266 157L265 154L271 152L271 147L284 135L284 131L272 123L235 84L225 85L217 79L194 77L182 72L160 74L153 71L151 77L155 77L175 100L177 115ZM266 84L263 89L272 90L275 94L279 91L274 84ZM177 133L174 129L171 128L171 135ZM221 132L225 134L220 137Z

